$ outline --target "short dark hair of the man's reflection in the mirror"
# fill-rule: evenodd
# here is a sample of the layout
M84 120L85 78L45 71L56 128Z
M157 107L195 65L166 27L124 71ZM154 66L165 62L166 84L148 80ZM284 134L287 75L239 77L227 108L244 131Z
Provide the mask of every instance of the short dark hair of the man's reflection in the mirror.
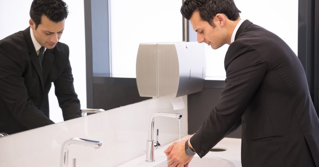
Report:
M33 0L30 8L30 17L35 23L35 29L41 24L43 14L57 23L66 19L68 13L68 5L63 0Z

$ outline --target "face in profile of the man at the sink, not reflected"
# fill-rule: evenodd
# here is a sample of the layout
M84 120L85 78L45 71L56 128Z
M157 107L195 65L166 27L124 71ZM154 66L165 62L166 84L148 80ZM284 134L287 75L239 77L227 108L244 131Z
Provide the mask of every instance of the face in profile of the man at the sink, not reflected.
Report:
M193 29L197 32L198 43L205 42L212 49L218 49L226 43L226 31L220 26L219 20L216 17L213 19L213 22L217 23L215 27L211 26L207 21L202 20L198 11L195 11L189 20Z

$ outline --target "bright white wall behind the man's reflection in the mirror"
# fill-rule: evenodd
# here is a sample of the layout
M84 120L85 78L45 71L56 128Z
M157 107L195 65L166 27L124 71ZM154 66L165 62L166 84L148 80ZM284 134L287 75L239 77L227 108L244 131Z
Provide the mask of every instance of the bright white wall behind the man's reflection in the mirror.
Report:
M0 0L0 39L29 26L29 11L32 0ZM69 6L69 16L65 21L65 29L60 42L70 47L70 63L74 77L74 87L81 102L86 108L86 71L85 71L85 29L84 1L64 0ZM54 85L49 93L50 118L54 122L63 121L54 94Z

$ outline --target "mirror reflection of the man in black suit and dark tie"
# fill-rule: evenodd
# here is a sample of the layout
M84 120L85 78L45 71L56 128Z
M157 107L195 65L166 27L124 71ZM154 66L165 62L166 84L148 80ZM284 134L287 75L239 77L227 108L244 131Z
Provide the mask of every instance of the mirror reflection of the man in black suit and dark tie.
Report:
M0 41L0 132L54 124L48 103L52 82L64 120L81 117L69 47L58 42L67 16L62 0L34 0L30 27Z

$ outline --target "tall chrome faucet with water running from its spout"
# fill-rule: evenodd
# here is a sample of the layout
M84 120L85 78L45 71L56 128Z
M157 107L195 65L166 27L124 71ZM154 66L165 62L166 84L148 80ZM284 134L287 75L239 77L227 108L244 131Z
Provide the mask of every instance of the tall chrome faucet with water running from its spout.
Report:
M146 162L153 162L154 161L154 148L157 149L159 148L160 144L159 142L154 142L153 139L153 133L154 133L154 119L157 116L161 117L169 117L169 118L176 118L176 119L181 119L182 114L172 114L172 113L166 113L166 112L157 112L152 114L150 118L150 125L148 129L148 138L146 141ZM158 131L157 131L157 136L158 136Z

